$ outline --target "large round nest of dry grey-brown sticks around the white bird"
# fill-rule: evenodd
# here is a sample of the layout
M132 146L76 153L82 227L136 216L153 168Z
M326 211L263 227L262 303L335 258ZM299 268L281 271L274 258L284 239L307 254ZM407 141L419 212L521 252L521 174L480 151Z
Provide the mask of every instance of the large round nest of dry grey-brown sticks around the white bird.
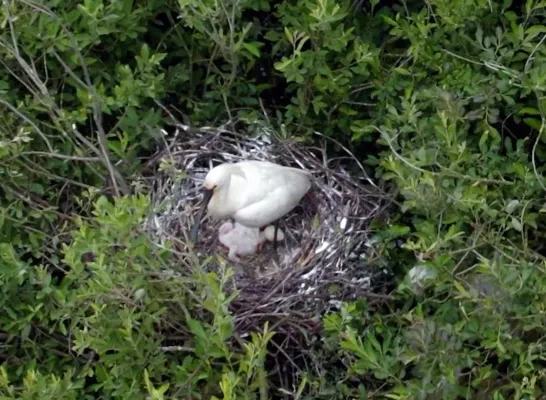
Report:
M227 249L218 239L218 228L225 220L205 217L198 243L189 240L203 206L205 175L216 165L242 160L266 160L312 174L309 192L280 221L285 239L278 243L278 262L269 242L241 263L228 260ZM147 232L160 244L172 242L175 256L194 254L201 263L207 259L203 264L207 271L220 272L224 266L233 269L225 290L239 291L231 304L239 332L271 319L278 322L274 324L277 332L292 330L291 325L314 330L315 317L340 301L386 297L373 293L374 276L382 271L368 267L374 257L369 226L391 199L349 153L328 158L323 148L278 139L272 133L249 137L222 128L191 132L178 128L150 163L156 173L151 184L154 210L146 222ZM360 177L349 169L358 171ZM180 265L188 263L181 261L185 262Z

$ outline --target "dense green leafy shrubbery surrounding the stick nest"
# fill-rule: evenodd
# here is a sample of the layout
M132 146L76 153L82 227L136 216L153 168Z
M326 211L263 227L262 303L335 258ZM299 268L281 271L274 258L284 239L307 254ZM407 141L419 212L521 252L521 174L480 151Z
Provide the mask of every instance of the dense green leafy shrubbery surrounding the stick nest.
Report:
M541 398L545 21L544 0L2 2L2 398ZM140 229L131 178L174 118L320 131L397 192L373 227L395 301L324 316L282 388L274 329L232 340L229 271L173 279Z

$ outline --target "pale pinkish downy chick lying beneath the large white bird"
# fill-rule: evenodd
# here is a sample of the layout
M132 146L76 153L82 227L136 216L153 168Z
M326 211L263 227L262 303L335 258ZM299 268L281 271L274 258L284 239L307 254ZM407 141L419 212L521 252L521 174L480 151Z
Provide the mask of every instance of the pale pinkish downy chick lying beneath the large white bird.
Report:
M274 240L275 227L267 226L263 232L258 228L248 228L237 222L224 222L218 229L218 239L220 243L229 249L228 258L235 262L240 262L238 256L255 254L261 249L266 240ZM284 233L279 229L277 232L277 241L284 239Z

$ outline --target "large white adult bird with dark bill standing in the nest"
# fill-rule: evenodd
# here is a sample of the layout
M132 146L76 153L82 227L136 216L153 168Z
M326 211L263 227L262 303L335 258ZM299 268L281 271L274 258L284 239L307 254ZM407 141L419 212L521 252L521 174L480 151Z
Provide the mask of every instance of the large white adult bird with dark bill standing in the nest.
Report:
M275 222L277 231L279 218L294 209L310 188L310 174L301 169L268 161L218 165L203 182L205 205L192 229L192 240L197 241L205 209L213 218L233 218L249 228Z

